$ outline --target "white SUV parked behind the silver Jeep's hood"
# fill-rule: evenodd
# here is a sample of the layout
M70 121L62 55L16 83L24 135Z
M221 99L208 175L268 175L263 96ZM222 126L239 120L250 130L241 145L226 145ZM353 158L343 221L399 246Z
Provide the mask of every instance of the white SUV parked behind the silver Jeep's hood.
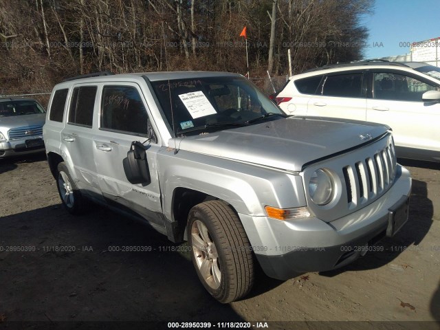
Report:
M440 68L365 61L327 65L290 78L276 98L289 114L391 126L398 157L440 162Z

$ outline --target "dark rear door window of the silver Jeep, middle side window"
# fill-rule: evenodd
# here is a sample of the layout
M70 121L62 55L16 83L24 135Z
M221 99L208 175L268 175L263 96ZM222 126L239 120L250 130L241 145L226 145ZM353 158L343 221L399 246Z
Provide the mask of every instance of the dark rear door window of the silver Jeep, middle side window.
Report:
M69 124L91 127L94 116L96 86L76 87L72 94Z

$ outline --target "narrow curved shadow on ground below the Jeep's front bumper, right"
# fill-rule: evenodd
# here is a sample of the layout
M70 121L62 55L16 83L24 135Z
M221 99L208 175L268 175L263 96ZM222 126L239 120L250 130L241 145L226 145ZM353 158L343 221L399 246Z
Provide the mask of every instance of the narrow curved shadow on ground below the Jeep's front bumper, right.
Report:
M377 243L376 248L380 250L369 252L366 256L338 270L320 272L320 275L333 277L347 271L372 270L390 263L412 245L414 245L412 248L417 248L428 234L434 214L426 187L426 182L412 180L408 222L395 236L386 237Z

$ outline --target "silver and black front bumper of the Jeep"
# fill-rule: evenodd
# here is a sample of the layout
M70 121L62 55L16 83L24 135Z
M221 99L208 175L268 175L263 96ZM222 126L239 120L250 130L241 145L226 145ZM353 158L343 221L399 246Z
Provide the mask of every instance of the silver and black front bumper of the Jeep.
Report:
M305 272L343 267L358 259L389 232L391 209L405 209L410 173L399 166L395 183L368 206L330 223L316 217L279 221L239 214L252 249L267 276L286 280Z

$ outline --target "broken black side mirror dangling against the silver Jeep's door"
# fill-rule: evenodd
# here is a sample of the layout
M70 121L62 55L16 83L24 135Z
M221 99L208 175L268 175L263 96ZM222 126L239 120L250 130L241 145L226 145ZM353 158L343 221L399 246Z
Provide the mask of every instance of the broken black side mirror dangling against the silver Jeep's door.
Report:
M146 160L145 147L139 141L131 142L126 158L122 160L126 179L131 184L150 184L150 169Z

